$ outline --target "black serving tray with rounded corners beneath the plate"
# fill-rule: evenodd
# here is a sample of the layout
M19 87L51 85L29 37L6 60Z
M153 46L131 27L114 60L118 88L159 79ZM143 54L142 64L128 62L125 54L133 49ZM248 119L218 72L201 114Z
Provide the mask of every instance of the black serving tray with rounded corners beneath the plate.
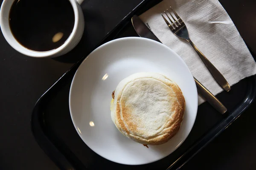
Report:
M99 45L120 37L137 37L131 25L131 17L134 14L142 14L159 2L160 0L143 0L106 35ZM255 59L253 51L250 52ZM32 113L31 125L36 141L52 161L63 170L99 170L109 167L133 170L179 169L233 123L256 96L256 77L243 79L233 85L230 92L217 95L227 107L228 111L224 115L215 111L208 102L198 107L198 114L191 133L175 152L151 164L136 166L117 164L102 158L87 147L77 134L70 117L68 104L70 84L84 58L73 65L41 96Z

